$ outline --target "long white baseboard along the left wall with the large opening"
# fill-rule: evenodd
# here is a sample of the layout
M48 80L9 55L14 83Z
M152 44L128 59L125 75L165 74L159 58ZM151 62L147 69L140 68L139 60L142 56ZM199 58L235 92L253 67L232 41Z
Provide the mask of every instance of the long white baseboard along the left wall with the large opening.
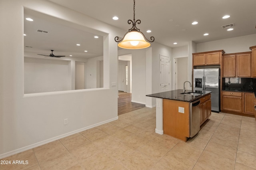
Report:
M55 140L59 140L59 139L61 139L61 138L64 138L64 137L70 136L70 135L72 135L72 134L76 134L76 133L82 132L82 131L84 131L84 130L88 130L88 129L90 129L90 128L94 128L94 127L97 127L97 126L100 126L100 125L103 125L103 124L106 124L106 123L115 121L115 120L117 120L117 119L118 119L118 117L115 117L115 118L109 119L109 120L107 120L107 121L103 121L103 122L100 122L100 123L96 123L96 124L94 124L94 125L90 125L90 126L88 126L88 127L80 128L80 129L78 129L78 130L74 130L74 131L72 131L72 132L68 132L68 133L66 133L66 134L62 134L62 135L60 135L60 136L56 136L56 137L53 137L53 138L50 138L50 139L47 139L47 140L43 140L43 141L41 141L41 142L38 142L38 143L35 143L35 144L31 144L31 145L25 146L25 147L23 147L23 148L19 148L19 149L12 150L12 151L7 152L7 153L4 153L4 154L0 154L0 159L6 158L6 157L8 157L8 156L12 156L12 155L14 155L14 154L18 154L18 153L20 153L20 152L24 152L24 151L29 150L29 149L32 149L32 148L36 148L36 147L41 146L41 145L43 145L43 144L47 144L47 143L53 142L53 141L55 141Z

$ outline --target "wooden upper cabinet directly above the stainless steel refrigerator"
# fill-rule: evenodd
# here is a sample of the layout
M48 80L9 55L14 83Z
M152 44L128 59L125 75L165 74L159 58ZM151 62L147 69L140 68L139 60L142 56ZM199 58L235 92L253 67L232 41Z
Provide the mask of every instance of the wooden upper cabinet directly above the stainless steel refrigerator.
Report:
M224 50L193 53L193 66L198 65L220 65Z

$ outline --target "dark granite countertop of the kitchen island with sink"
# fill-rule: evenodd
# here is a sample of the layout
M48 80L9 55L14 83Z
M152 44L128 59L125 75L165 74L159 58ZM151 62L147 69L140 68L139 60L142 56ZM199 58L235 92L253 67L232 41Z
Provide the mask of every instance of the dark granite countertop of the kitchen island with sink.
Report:
M208 95L209 93L212 93L211 91L192 91L192 90L186 90L186 93L187 92L202 93L202 94L198 95L198 96L183 95L183 94L180 94L180 93L183 93L183 89L178 89L178 90L166 91L166 92L161 92L161 93L154 93L154 94L146 95L146 96L162 98L162 99L169 99L169 100L192 102L192 101L195 101L198 98L201 98L201 97L203 97L205 95Z

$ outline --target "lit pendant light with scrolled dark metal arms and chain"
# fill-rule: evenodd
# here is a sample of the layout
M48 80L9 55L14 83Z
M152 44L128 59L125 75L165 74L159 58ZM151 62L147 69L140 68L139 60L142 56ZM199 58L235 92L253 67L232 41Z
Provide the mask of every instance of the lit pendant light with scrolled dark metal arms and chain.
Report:
M133 21L128 20L128 24L132 24L132 28L124 34L124 38L119 40L119 37L115 37L115 41L118 42L118 47L125 49L142 49L150 46L150 42L154 42L155 38L150 37L150 40L146 39L144 34L140 32L140 29L136 27L136 24L140 24L140 20L135 21L135 0L133 0ZM119 40L119 41L118 41Z

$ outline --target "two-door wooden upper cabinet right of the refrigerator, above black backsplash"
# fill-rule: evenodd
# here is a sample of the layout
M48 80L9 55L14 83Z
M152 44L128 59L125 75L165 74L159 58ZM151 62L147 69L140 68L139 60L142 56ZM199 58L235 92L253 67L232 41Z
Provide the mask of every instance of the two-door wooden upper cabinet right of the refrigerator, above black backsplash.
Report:
M251 52L224 54L222 59L223 77L251 77Z

